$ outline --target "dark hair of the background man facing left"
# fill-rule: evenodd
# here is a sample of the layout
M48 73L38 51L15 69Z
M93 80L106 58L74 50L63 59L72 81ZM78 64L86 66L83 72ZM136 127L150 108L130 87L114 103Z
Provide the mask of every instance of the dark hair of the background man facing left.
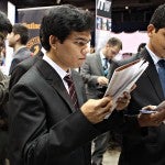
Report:
M20 42L21 44L25 45L29 41L29 30L26 26L24 26L21 23L15 23L12 28L12 32L14 34L19 34L20 35Z

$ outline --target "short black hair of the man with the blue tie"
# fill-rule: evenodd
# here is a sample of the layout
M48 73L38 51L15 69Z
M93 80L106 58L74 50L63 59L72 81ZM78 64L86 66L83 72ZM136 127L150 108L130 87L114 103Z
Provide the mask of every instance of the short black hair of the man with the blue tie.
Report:
M160 29L165 28L165 4L160 6L153 13L150 24L153 24L158 31Z

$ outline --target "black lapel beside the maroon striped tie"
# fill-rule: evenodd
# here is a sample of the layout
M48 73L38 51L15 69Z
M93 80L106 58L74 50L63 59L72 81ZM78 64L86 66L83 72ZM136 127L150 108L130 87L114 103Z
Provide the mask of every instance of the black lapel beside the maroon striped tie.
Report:
M43 78L58 92L63 100L69 106L70 111L75 111L76 109L72 103L72 99L63 84L61 76L56 73L56 70L43 59L37 61L35 66L43 76Z

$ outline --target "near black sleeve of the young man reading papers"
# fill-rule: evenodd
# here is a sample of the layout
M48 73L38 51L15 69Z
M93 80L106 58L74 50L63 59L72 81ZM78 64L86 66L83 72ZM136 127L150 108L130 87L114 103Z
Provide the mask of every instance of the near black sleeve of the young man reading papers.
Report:
M32 87L20 82L10 91L11 165L46 164L47 160L65 156L100 133L78 110L50 128L50 119L46 117L48 106L44 105L37 94ZM21 158L25 162L21 162Z

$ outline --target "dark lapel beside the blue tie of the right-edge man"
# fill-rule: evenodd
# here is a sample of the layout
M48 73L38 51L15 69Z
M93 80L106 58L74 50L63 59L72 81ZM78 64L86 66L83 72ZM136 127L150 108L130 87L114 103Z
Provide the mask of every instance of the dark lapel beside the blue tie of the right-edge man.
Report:
M155 89L155 92L156 92L157 97L162 101L165 98L164 98L163 89L162 89L162 86L161 86L160 77L158 77L156 67L154 65L154 62L153 62L151 55L148 54L148 52L146 51L146 48L144 48L142 51L141 55L139 55L139 56L144 57L150 63L150 65L148 65L145 73L146 73L151 84L153 85L153 88Z

